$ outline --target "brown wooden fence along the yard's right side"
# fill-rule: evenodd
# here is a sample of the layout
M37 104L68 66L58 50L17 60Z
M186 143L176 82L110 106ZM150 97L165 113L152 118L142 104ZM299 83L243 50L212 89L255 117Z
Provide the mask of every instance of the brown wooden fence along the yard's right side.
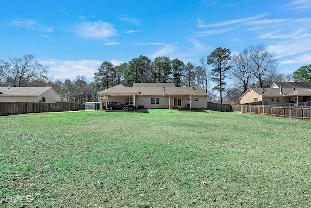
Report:
M233 111L284 118L311 119L311 106L232 105Z

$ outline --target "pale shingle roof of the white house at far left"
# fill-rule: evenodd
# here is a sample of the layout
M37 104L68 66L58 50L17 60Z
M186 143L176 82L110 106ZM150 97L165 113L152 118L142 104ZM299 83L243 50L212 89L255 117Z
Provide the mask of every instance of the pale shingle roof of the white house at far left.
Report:
M52 87L0 87L0 93L2 93L1 96L39 96L51 88Z

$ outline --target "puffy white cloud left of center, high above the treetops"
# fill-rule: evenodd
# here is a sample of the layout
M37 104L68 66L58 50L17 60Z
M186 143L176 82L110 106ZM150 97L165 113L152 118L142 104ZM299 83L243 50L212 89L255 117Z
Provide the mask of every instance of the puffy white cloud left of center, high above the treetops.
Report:
M76 27L75 32L82 37L103 39L117 35L117 30L108 22L83 22Z

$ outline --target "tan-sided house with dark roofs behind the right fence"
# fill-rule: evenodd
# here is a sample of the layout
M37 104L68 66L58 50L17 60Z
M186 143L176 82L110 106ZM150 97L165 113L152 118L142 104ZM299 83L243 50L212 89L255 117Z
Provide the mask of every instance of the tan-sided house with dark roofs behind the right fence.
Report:
M311 102L311 83L275 82L271 88L249 88L240 97L240 104L253 102L262 102L262 105Z

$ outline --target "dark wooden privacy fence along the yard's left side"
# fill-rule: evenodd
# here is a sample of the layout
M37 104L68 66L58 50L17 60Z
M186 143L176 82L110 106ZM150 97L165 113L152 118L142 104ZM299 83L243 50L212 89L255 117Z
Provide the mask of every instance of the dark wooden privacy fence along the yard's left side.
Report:
M0 102L0 116L24 114L24 113L77 111L77 110L84 110L83 105L77 103Z

